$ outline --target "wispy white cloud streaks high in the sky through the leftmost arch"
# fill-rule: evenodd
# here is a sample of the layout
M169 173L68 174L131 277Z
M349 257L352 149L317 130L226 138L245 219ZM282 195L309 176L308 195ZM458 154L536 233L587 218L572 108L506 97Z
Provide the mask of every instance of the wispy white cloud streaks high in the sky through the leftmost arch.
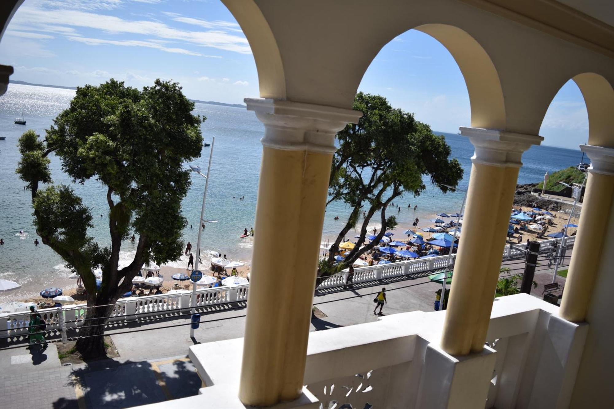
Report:
M184 44L196 45L199 47L212 47L215 49L243 54L251 53L247 39L243 36L243 34L238 35L226 32L226 30L240 31L240 29L236 28L235 23L230 23L228 21L206 21L192 18L190 20L192 24L198 23L198 25L201 26L209 25L212 28L216 28L216 30L188 31L168 26L160 21L126 20L125 18L87 11L112 8L114 7L115 2L111 0L93 1L91 4L90 2L86 3L88 6L85 10L84 7L66 7L64 6L65 3L60 1L46 1L42 3L33 3L32 6L21 6L19 12L13 18L12 23L20 26L20 28L29 27L28 31L42 31L42 26L60 26L64 28L68 26L72 29L84 28L99 30L106 34L133 34L149 36L157 38L157 41L179 41L183 42ZM68 4L72 4L72 0ZM189 18L181 17L180 15L173 16L174 19ZM76 40L76 37L76 33L73 32L70 39ZM106 44L113 44L108 42L112 40L91 38L89 42L84 42L85 44L98 45L103 44L103 41L107 41ZM139 44L137 44L135 41L143 40L122 39L118 41L120 41L120 43L117 43L117 45L139 45L142 47L161 49L160 47L152 47L151 44L153 44L153 41L151 39ZM182 48L168 48L163 49L163 51L204 56L201 53L188 51Z

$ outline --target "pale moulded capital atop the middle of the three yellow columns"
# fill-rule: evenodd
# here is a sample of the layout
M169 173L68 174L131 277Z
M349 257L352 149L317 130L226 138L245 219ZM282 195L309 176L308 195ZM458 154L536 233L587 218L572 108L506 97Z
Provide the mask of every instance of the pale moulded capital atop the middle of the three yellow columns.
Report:
M519 168L523 152L532 145L539 145L542 136L503 131L500 129L461 127L462 136L467 136L475 147L473 163L490 166Z

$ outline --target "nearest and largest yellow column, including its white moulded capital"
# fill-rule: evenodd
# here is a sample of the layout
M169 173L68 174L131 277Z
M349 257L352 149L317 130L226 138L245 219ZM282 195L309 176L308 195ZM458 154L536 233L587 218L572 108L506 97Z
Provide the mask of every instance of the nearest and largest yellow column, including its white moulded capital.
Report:
M239 399L296 399L303 374L336 131L360 112L246 99L265 123Z

